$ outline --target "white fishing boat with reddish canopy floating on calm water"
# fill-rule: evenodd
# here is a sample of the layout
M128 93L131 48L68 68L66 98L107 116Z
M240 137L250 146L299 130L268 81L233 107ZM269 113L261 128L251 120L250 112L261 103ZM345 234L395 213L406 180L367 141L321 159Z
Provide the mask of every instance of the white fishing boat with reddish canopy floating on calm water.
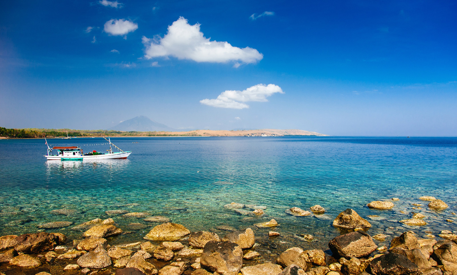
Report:
M105 140L106 138L103 137ZM44 138L46 145L48 140ZM45 155L48 161L82 161L82 160L106 160L106 159L126 159L132 151L122 151L116 145L111 143L111 139L108 137L110 149L106 150L107 153L101 153L93 150L90 153L83 153L83 150L79 146L53 146L52 148L48 145L48 154ZM111 145L117 148L119 152L113 152ZM57 155L53 153L53 150L57 151Z

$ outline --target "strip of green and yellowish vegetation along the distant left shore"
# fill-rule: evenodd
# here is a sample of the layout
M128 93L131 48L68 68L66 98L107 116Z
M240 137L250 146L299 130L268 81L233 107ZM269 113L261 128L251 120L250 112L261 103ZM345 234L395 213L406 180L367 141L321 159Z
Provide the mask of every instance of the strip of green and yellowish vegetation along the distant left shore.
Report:
M67 136L200 136L197 132L190 132L186 134L165 134L164 132L138 132L129 131L121 132L114 130L72 130L72 129L43 129L43 128L25 128L25 129L7 129L0 127L0 137L7 138L41 138L46 137L65 137Z

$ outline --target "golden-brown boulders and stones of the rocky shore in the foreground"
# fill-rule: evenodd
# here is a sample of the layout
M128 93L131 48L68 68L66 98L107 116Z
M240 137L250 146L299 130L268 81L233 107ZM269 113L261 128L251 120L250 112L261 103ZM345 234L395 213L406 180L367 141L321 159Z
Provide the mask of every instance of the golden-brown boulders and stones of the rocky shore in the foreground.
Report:
M368 207L390 209L393 203L375 201ZM440 210L448 206L433 198L429 207ZM316 205L311 211L324 213L325 209ZM253 213L263 212L256 209ZM287 213L310 214L296 207ZM421 218L416 215L400 222L420 226ZM232 231L221 238L213 232L190 232L181 224L162 223L152 228L143 237L145 240L110 245L110 237L123 233L112 218L94 219L79 226L87 229L80 240L46 232L0 237L1 274L457 275L457 235L452 231L441 231L439 241L431 232L428 239L418 239L414 232L407 231L392 239L390 247L378 247L373 239L383 241L387 236L367 234L364 229L371 224L353 209L346 209L333 221L333 226L351 232L329 240L331 253L291 247L276 262L261 264L255 261L260 254L255 251L257 244L251 228ZM274 230L278 223L271 219L255 226ZM280 233L270 231L268 235L275 238Z

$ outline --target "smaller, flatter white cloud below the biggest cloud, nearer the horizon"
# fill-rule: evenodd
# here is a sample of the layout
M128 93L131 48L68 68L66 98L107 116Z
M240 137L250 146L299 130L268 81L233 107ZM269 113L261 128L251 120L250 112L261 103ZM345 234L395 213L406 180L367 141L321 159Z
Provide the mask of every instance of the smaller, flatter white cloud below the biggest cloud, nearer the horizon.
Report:
M249 108L244 102L267 102L267 97L274 93L284 93L281 87L275 84L257 84L244 91L227 90L218 95L216 99L202 99L201 104L218 108L244 109Z

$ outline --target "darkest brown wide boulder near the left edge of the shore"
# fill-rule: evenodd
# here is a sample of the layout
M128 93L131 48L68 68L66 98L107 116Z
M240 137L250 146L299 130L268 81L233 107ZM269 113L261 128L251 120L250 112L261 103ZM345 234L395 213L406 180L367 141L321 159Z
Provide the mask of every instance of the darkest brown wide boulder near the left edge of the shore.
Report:
M14 246L17 252L38 253L53 250L60 243L58 235L53 233L22 234L16 237L17 244Z

